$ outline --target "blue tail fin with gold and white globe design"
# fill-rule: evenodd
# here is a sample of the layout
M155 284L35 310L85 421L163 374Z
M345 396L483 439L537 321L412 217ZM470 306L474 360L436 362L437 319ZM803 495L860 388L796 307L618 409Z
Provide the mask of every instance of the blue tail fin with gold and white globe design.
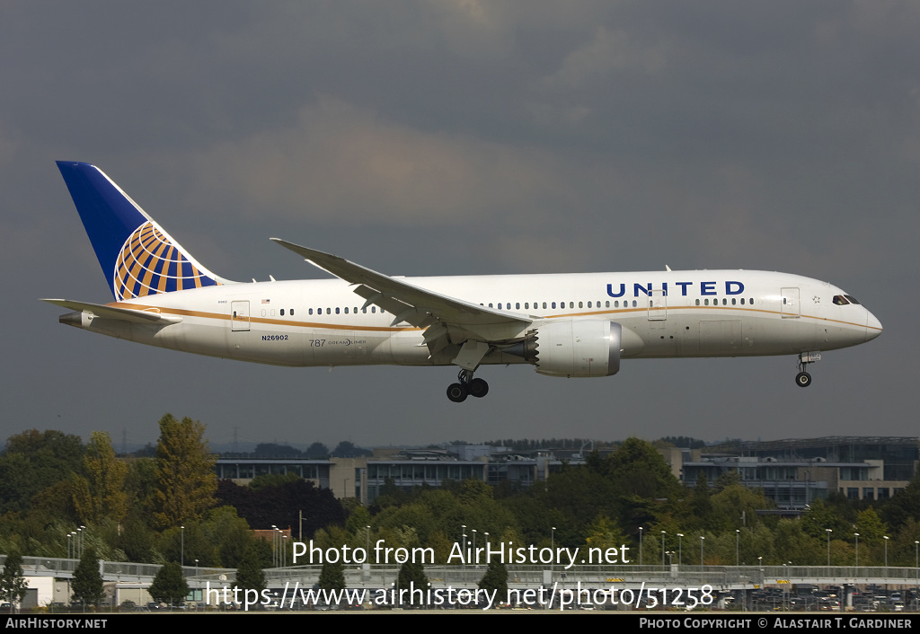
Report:
M202 267L98 167L57 166L117 301L228 282Z

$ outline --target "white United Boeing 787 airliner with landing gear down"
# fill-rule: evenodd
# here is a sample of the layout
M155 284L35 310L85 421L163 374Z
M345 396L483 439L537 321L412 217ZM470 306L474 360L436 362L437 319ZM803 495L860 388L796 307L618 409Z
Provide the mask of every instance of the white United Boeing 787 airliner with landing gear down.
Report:
M390 277L271 238L335 279L231 282L204 268L98 167L59 161L115 301L45 300L60 321L181 352L275 365L454 365L455 402L480 365L610 376L622 359L798 355L881 333L850 294L766 271Z

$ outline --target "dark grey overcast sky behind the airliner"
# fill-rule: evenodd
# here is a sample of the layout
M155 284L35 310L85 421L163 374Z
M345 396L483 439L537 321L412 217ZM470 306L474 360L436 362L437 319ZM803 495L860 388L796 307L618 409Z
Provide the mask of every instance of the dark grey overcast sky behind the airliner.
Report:
M13 0L0 77L3 438L917 435L918 3ZM885 331L808 389L795 357L486 367L461 405L451 368L147 348L38 301L112 300L57 159L230 279L323 277L270 236L394 275L787 271Z

